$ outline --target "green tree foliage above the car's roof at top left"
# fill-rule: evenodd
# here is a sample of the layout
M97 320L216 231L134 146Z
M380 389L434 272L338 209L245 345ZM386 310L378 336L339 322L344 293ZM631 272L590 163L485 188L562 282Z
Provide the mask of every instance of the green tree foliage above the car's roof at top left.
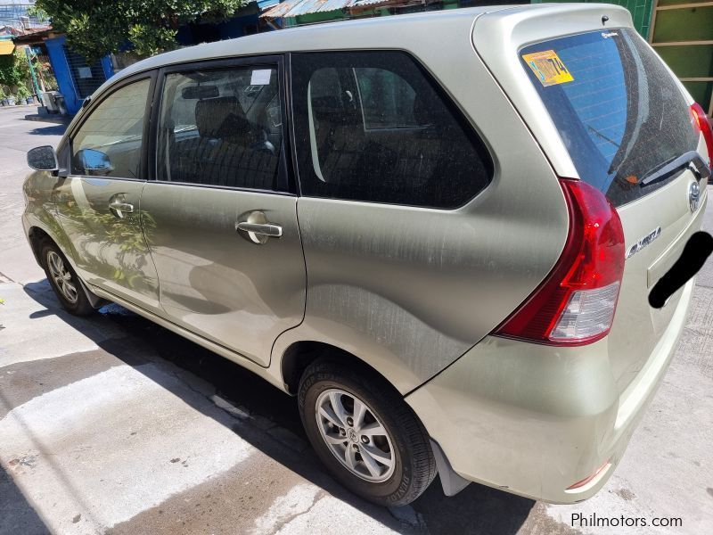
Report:
M93 62L133 46L141 56L176 48L181 24L224 21L246 0L37 0L72 50Z

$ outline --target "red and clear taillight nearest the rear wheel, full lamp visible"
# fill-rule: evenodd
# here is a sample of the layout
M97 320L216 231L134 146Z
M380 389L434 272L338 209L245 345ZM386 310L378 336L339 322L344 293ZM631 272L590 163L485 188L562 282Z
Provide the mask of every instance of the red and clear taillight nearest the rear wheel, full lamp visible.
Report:
M494 334L550 345L584 345L609 333L624 273L624 230L602 192L561 178L570 232L549 276Z

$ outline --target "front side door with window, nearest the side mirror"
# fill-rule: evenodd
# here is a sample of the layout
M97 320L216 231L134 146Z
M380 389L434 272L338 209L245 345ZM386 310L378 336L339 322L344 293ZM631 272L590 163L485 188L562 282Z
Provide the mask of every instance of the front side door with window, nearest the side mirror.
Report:
M60 150L65 176L54 198L83 280L157 312L158 276L140 206L152 85L150 74L129 78L82 112Z

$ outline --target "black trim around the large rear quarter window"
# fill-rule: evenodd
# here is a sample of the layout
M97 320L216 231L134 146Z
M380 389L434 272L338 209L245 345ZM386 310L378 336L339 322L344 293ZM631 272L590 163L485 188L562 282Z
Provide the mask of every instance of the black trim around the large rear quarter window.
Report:
M425 204L413 204L413 203L404 203L404 202L383 202L383 201L368 201L365 199L344 199L340 197L326 197L326 196L316 196L316 195L307 195L302 192L302 180L303 177L301 173L304 172L304 169L300 169L300 158L298 155L298 144L297 144L297 121L294 119L294 70L292 67L292 56L297 54L297 55L325 55L325 54L334 54L334 53L347 53L347 54L353 54L353 53L363 53L363 54L371 54L371 53L403 53L406 54L406 56L414 62L414 65L416 68L421 72L423 79L426 83L428 83L433 91L436 93L440 101L446 106L447 111L450 112L451 116L453 119L455 119L456 123L463 128L463 133L468 136L468 140L471 142L473 145L473 149L478 153L483 166L487 169L488 171L488 183L479 189L478 192L474 193L470 197L468 197L464 202L458 204L457 206L453 207L438 207L438 206L430 206L430 205L425 205ZM438 211L444 211L444 212L453 212L457 210L462 210L465 206L473 202L474 199L479 197L482 193L484 193L490 185L495 182L496 178L496 159L493 155L493 153L490 150L490 146L486 140L485 137L483 137L480 133L478 128L475 127L475 125L471 122L470 119L466 116L465 112L461 109L461 106L455 101L455 99L448 93L447 89L445 86L441 84L441 82L436 78L430 70L419 60L418 57L414 55L414 53L411 53L407 50L404 49L396 49L396 48L370 48L370 49L335 49L335 50L308 50L308 51L298 51L294 53L288 53L287 54L287 74L289 78L289 88L290 88L290 129L291 129L291 139L292 139L292 147L293 147L293 154L292 154L292 161L293 161L293 172L294 172L294 177L297 183L298 187L298 192L299 196L304 196L310 199L324 199L325 201L338 201L338 202L364 202L367 204L376 204L376 205L383 205L383 206L397 206L397 207L404 207L404 208L415 208L415 209L422 209L422 210L438 210ZM353 67L352 67L353 68ZM302 162L304 164L304 161L310 160L311 161L311 156L310 158L303 157ZM307 169L307 175L313 174L314 169Z

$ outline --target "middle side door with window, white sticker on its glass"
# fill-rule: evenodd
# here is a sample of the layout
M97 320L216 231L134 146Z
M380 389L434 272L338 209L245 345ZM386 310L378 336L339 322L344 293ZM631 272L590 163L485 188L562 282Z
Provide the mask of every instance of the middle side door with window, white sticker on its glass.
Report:
M302 320L306 273L287 182L281 58L160 72L156 180L142 210L171 321L259 364Z

